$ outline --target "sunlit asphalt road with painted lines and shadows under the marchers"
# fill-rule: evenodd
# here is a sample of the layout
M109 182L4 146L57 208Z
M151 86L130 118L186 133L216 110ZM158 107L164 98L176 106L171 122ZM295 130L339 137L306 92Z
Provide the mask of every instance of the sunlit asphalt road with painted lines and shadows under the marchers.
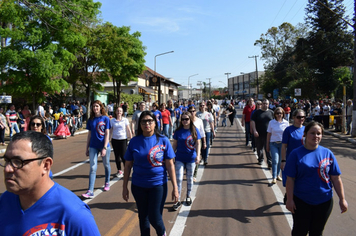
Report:
M238 116L241 111L238 110ZM227 122L229 125L229 122ZM88 188L89 164L85 156L86 134L54 140L54 180L78 197ZM330 148L341 167L347 213L340 214L338 198L324 235L354 235L356 218L355 145L331 135L321 145ZM112 173L116 173L111 154ZM86 202L91 207L102 235L139 235L134 199L121 197L122 180L112 175L111 190L102 192L104 168L99 161L95 183L96 197ZM209 156L209 165L200 166L193 189L193 204L180 211L171 210L171 186L163 217L168 235L290 235L291 215L282 204L285 192L281 182L271 185L271 173L257 165L255 154L244 145L244 133L238 122L219 127ZM0 193L5 191L0 177ZM183 196L186 182L183 182ZM153 228L152 235L156 235Z

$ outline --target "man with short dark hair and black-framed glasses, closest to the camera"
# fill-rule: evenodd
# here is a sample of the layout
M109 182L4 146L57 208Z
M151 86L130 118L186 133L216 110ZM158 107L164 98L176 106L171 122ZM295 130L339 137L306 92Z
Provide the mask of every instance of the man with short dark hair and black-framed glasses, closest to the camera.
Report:
M5 155L0 235L100 235L87 204L53 182L53 146L46 135L14 135Z

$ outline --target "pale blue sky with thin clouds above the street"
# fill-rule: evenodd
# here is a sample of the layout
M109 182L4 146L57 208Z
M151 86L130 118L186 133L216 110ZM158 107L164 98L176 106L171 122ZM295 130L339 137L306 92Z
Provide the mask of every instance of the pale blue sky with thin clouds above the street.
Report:
M99 0L103 22L130 26L146 47L146 66L174 82L225 87L227 76L263 71L261 34L304 23L307 0ZM353 0L344 0L352 18ZM173 53L155 56L161 53ZM196 75L198 74L198 75ZM194 76L192 76L194 75Z

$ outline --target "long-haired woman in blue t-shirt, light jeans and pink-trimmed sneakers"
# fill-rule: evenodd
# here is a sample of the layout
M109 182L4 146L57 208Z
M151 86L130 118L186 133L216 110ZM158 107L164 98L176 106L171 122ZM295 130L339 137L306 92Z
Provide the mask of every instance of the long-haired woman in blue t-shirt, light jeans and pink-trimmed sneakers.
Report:
M105 168L105 185L104 191L110 190L110 119L106 114L104 105L96 100L93 102L90 111L90 119L87 122L87 146L85 154L89 156L90 171L89 171L89 189L82 194L84 198L94 197L94 184L96 179L96 169L98 167L98 155L103 158Z

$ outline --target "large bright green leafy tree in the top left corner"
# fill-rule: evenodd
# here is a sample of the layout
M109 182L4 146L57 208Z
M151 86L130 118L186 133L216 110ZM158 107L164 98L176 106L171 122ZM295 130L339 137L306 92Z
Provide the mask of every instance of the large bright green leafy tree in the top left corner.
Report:
M100 3L92 0L75 2L14 1L0 2L1 80L2 92L13 97L44 99L66 88L63 76L68 75L75 56L68 45L82 43L79 28L89 24L98 14Z

